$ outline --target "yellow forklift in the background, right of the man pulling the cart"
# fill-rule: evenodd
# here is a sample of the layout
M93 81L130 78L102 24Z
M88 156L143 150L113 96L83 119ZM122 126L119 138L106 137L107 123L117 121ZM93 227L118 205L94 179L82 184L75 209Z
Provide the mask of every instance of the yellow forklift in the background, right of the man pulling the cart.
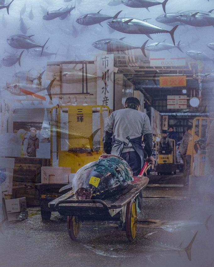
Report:
M155 150L156 150L156 160L157 167L156 172L158 175L161 174L176 174L176 147L175 141L170 139L172 144L172 151L158 151L158 147L160 145L160 141L156 141Z

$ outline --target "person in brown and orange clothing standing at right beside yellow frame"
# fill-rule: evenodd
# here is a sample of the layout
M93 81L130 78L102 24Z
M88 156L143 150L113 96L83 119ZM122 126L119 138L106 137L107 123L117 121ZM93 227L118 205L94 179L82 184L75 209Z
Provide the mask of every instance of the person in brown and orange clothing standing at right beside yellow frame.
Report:
M197 135L192 136L192 125L187 127L180 146L179 151L184 160L184 174L183 174L183 183L186 186L189 183L189 176L191 171L191 155L192 155L192 138L195 140L199 139ZM196 153L195 146L193 148L193 156Z

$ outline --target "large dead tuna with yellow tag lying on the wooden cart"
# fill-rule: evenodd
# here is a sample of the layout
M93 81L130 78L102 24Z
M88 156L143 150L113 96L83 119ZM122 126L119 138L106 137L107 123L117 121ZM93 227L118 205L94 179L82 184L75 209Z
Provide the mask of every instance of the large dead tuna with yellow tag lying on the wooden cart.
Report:
M121 157L111 156L103 155L77 171L72 182L77 199L104 198L126 188L133 180L128 163Z

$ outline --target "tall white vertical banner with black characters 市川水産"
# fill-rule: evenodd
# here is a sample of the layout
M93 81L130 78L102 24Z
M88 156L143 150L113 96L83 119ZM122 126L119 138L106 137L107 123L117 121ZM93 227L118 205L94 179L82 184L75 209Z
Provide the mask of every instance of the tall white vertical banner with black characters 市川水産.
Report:
M97 105L114 105L114 54L97 56Z

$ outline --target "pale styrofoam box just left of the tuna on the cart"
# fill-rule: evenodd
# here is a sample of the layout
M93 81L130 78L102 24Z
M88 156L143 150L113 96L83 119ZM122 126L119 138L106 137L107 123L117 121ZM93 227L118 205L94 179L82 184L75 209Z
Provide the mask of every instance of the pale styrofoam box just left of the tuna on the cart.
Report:
M70 167L41 167L41 183L68 183Z

